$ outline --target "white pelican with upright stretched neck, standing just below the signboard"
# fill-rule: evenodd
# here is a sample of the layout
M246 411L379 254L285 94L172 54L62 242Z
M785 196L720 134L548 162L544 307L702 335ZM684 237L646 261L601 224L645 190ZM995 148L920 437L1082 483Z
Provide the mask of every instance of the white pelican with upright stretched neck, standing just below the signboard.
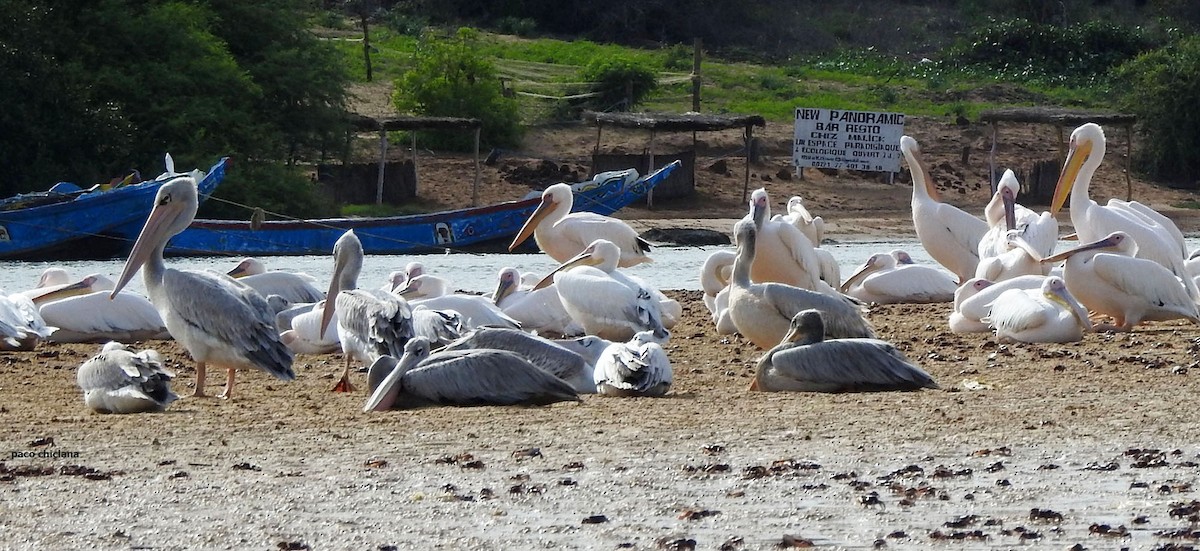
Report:
M912 223L917 238L929 256L958 276L959 282L970 280L979 264L979 240L988 232L988 222L937 200L937 186L929 178L916 139L900 137L900 152L912 172Z

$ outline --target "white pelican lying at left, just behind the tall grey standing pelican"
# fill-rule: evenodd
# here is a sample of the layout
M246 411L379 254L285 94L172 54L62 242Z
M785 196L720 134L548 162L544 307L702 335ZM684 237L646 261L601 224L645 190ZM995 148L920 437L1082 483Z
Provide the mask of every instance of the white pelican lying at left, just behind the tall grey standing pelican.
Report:
M122 291L101 274L50 291L31 300L47 324L58 328L54 342L108 342L170 339L162 316L145 297Z

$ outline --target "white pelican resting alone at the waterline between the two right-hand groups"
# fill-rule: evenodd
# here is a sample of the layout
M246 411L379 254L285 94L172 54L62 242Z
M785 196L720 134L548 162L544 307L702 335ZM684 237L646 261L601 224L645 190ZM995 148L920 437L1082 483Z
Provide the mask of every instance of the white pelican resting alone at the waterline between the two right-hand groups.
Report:
M876 304L949 303L955 288L949 274L923 264L898 265L896 257L884 252L871 254L841 285L842 293Z

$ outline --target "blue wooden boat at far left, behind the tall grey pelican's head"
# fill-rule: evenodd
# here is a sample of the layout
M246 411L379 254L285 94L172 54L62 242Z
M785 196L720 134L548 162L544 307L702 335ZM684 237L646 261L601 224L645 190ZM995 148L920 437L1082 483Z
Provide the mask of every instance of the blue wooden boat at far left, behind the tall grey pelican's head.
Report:
M227 158L217 161L197 182L206 198L224 178ZM150 216L154 196L167 173L150 181L80 190L55 185L52 191L0 200L0 258L50 260L112 258L127 251Z

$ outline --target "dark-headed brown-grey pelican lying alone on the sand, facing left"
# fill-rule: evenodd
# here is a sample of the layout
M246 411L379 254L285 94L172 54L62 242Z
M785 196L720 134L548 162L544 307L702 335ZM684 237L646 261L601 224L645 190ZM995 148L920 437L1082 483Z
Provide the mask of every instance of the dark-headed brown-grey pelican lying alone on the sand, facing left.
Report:
M869 393L936 389L924 370L878 339L824 340L817 310L798 312L781 342L758 360L750 390Z

